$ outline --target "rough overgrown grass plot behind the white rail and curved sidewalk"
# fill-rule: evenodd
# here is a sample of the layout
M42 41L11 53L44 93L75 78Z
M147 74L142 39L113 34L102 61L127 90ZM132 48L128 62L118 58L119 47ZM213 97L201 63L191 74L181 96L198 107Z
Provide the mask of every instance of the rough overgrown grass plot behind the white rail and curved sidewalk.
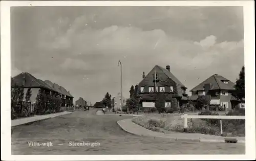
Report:
M187 113L189 115L197 115L198 112ZM220 112L220 115L225 115L225 112ZM133 122L147 129L157 132L172 133L184 132L184 119L182 114L145 114L141 117L136 117ZM212 119L213 120L213 119ZM218 120L216 120L218 122ZM224 121L223 121L224 122ZM203 133L211 135L221 135L220 124L209 124L202 119L188 119L187 133ZM224 136L245 136L245 124L236 125L226 123L223 125Z

